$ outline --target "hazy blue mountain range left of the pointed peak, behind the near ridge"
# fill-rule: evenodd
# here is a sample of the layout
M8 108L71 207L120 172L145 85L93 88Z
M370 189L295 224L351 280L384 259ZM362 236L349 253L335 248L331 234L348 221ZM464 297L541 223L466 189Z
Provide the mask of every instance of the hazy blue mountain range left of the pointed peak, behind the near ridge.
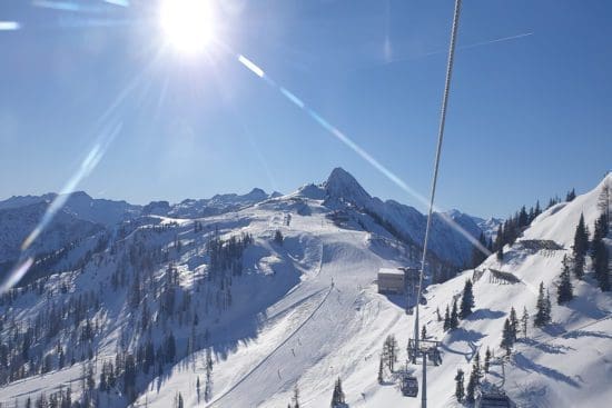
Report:
M135 221L142 216L207 217L236 211L279 196L276 191L267 195L261 189L253 189L241 196L228 193L176 205L154 201L147 206L137 206L126 201L95 199L83 191L76 191L69 195L53 222L45 229L30 252L45 258L75 242L97 236L101 230L111 233L120 223ZM0 201L0 225L3 227L0 231L0 277L19 258L21 243L57 198L57 193L50 192L42 196L13 196ZM46 267L50 268L50 265ZM49 271L57 269L50 268Z

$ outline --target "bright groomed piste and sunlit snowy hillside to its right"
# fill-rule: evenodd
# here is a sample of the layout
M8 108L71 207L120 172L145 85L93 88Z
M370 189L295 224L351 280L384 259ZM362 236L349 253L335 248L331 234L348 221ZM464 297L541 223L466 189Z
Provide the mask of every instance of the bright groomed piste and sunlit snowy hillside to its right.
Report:
M581 211L592 225L600 188L541 215L524 239L555 239L569 248ZM381 261L367 255L367 248L363 247L365 237L353 233L349 248L344 243L349 238L345 231L320 235L324 250L332 242L344 242L334 243L333 256L323 257L316 278L309 275L282 302L304 306L288 311L286 317L266 322L256 341L241 345L235 354L218 361L215 399L208 406L284 407L290 399L293 386L298 384L303 406L325 407L337 376L344 380L351 407L419 406L416 399L403 397L393 381L385 386L376 381L384 338L395 334L399 344L405 345L412 332L412 319L397 305L401 300L375 292L372 280ZM328 243L327 239L330 239ZM362 243L355 246L355 242ZM456 369L468 372L474 354L477 350L483 354L487 346L496 355L502 354L499 344L510 307L521 310L526 306L533 312L540 281L554 292L552 283L565 252L527 253L517 245L507 250L502 265L495 257L486 260L482 270L492 267L511 271L521 282L494 283L485 271L474 288L477 310L450 335L442 331L435 309L443 310L453 296L461 292L464 280L472 277L473 271L430 288L423 322L431 336L444 341L444 364L431 367L428 374L432 407L460 406L453 397ZM329 283L332 278L334 286ZM313 299L316 290L323 292ZM517 344L516 354L505 366L505 378L500 367L492 369L488 380L503 384L517 406L574 407L580 404L601 407L612 398L609 388L612 366L605 357L612 352L610 293L601 293L589 281L576 283L576 292L578 298L569 305L553 306L554 324L545 331L530 327L530 338ZM146 399L152 406L164 407L180 390L190 396L187 405L195 405L194 384L197 376L204 375L203 357L196 359L200 362L195 370L177 368L166 391L151 387L140 402ZM419 372L417 367L412 369Z

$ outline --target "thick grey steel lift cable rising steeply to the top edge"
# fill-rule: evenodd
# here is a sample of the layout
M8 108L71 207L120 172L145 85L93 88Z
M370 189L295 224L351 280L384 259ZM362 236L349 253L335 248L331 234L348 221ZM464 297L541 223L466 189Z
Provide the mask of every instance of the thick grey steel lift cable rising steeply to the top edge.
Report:
M414 339L415 339L415 345L417 349L418 349L418 305L421 303L421 296L423 291L423 276L425 272L425 261L427 257L427 243L430 240L430 229L432 226L432 215L434 210L434 200L435 200L435 192L437 187L437 175L438 175L440 161L442 156L442 143L444 141L444 126L446 122L446 110L448 107L448 93L451 91L451 78L453 77L453 62L455 58L455 44L456 44L458 20L460 20L460 13L461 13L461 2L462 0L455 0L455 12L453 16L453 28L451 30L451 44L448 48L448 61L446 66L446 81L444 83L444 96L442 98L442 110L440 115L440 129L437 133L437 148L436 148L435 165L434 165L434 176L432 179L432 191L430 196L430 209L427 212L427 226L425 228L425 240L423 242L423 259L421 260L421 273L418 276L418 291L416 297L416 310L415 310L415 319L414 319Z

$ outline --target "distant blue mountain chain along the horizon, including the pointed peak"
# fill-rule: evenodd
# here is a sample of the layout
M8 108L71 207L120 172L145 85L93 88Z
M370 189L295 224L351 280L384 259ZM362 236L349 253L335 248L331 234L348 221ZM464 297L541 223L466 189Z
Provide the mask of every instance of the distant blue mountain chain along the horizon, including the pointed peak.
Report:
M83 191L77 191L68 197L60 211L60 217L56 217L53 225L47 229L47 236L52 235L52 239L41 239L41 243L34 246L32 252L40 256L57 251L73 241L91 237L101 228L112 233L121 222L136 221L140 217L196 219L237 212L266 200L280 199L282 197L279 192L275 191L268 195L264 190L255 188L245 195L225 193L216 195L209 199L187 199L174 205L168 201L154 201L146 206L136 206L126 201L93 199ZM424 215L413 207L393 200L383 202L378 198L369 196L352 175L340 168L334 169L325 182L304 186L287 197L292 197L294 200L298 197L324 200L324 206L327 209L342 212L340 217L356 222L354 228L365 228L383 233L387 238L399 239L414 247L415 251L418 250L424 238L426 223ZM12 266L19 256L21 242L34 228L37 220L41 219L43 210L56 198L56 193L47 193L11 197L0 201L0 211L10 210L6 213L14 220L13 227L0 236L0 270L2 272ZM31 213L34 208L32 206L38 209L34 213ZM452 219L474 237L480 236L481 229L470 216L455 211L452 213ZM78 221L83 221L83 226L77 231L73 223ZM96 227L90 223L95 223ZM65 231L73 232L65 233ZM472 257L471 243L440 219L438 215L433 222L431 251L432 257L443 265L441 268L444 271L436 276L438 280L453 276L456 270L467 265ZM55 272L58 269L50 268L49 271Z

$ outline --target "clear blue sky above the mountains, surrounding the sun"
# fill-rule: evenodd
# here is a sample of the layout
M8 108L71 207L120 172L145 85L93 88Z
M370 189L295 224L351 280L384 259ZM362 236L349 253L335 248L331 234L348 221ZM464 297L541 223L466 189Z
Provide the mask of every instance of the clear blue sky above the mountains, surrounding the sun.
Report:
M80 11L34 7L52 3ZM60 190L120 122L78 187L93 197L289 192L342 166L423 209L235 54L427 195L453 1L227 0L200 56L162 46L154 1L126 3L2 0L21 29L0 31L0 197ZM442 208L505 216L612 168L611 17L605 0L464 1Z

